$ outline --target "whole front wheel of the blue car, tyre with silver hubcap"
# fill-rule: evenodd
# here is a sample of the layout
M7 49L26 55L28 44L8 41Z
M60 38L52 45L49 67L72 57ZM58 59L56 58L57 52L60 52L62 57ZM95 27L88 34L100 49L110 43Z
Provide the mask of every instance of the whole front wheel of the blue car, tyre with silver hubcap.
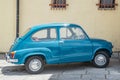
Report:
M98 68L105 68L109 64L109 55L105 51L99 51L95 54L93 65Z

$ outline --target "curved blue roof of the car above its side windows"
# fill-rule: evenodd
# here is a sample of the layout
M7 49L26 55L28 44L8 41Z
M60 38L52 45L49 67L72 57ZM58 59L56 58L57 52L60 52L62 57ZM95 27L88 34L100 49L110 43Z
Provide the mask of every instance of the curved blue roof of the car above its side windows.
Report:
M31 29L42 29L42 28L50 28L50 27L67 27L67 26L78 26L76 24L71 23L49 23L49 24L41 24L33 26Z

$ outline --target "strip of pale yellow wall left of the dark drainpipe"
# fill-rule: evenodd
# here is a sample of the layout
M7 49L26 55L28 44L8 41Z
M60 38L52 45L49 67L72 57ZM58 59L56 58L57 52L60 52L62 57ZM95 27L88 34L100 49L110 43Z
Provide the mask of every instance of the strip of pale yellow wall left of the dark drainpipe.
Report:
M0 0L0 52L8 51L15 38L15 0Z

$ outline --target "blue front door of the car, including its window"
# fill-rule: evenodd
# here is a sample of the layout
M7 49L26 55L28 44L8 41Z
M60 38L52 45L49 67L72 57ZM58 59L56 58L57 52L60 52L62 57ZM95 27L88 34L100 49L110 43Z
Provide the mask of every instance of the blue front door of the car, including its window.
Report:
M60 28L60 61L89 61L92 56L92 44L79 27Z

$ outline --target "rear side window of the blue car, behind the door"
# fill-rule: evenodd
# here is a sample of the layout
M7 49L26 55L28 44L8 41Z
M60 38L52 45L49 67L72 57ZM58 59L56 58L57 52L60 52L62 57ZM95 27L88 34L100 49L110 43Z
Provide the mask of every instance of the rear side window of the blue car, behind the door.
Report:
M43 41L43 40L56 40L56 29L48 28L37 31L33 34L32 40L34 41Z

